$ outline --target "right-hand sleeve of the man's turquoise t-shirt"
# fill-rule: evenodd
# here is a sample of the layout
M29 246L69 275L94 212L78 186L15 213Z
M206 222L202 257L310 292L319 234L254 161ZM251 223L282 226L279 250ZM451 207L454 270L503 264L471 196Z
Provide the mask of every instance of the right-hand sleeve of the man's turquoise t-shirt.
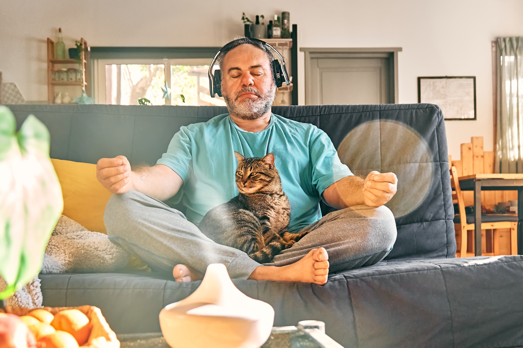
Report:
M318 131L317 136L311 140L310 158L312 185L321 196L330 185L354 174L339 160L338 153L327 134Z

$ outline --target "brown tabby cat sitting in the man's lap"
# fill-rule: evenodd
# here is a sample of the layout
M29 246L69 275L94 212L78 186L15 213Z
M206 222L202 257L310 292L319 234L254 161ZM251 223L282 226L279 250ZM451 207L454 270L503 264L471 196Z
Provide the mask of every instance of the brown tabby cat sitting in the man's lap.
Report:
M238 195L212 208L199 228L217 243L240 249L252 259L267 263L290 248L306 233L287 230L291 208L274 166L274 154L263 158L234 152L238 159Z

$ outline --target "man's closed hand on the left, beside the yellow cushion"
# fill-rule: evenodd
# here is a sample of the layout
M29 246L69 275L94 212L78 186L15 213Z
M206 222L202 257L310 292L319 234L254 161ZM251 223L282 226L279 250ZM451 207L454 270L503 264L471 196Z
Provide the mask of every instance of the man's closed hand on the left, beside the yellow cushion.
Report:
M96 178L112 193L133 190L131 165L125 156L100 158L96 164Z

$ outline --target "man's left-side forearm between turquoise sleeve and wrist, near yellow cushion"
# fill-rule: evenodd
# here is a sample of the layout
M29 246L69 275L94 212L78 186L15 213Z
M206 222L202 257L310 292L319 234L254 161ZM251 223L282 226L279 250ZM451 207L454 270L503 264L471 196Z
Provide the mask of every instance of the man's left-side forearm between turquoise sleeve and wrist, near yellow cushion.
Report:
M174 196L183 183L175 171L164 165L133 168L131 181L133 190L160 201Z

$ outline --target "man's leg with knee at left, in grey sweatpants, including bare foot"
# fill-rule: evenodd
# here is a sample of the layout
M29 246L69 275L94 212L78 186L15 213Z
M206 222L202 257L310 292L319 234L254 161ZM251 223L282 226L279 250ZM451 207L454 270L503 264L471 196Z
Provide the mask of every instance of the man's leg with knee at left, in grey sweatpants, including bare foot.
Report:
M137 191L112 195L104 223L113 243L153 268L173 272L177 281L201 279L211 263L223 263L231 278L317 284L327 280L325 249L314 248L285 267L264 266L241 250L215 243L184 214Z

